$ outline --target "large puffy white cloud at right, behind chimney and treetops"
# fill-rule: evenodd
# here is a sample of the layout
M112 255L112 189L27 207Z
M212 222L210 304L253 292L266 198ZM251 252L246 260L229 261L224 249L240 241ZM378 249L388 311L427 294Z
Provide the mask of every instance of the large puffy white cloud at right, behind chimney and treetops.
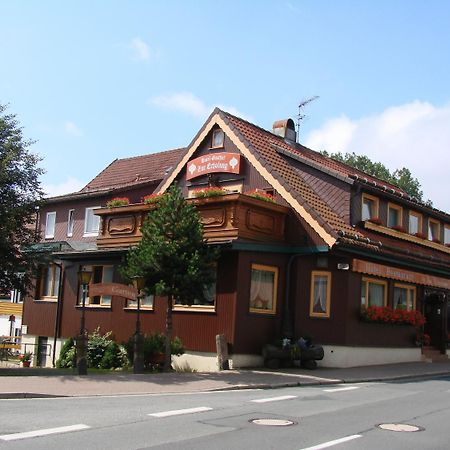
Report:
M414 101L370 117L331 119L309 133L315 150L355 152L389 169L407 167L422 185L424 198L450 211L450 104Z

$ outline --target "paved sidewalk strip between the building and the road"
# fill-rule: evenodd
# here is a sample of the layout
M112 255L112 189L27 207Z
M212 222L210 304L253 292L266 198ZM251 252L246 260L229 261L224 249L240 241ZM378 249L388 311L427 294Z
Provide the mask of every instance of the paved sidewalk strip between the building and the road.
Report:
M450 361L403 363L346 369L229 370L219 373L112 372L78 376L53 369L0 368L0 399L143 395L288 386L311 386L367 381L392 381L450 376Z

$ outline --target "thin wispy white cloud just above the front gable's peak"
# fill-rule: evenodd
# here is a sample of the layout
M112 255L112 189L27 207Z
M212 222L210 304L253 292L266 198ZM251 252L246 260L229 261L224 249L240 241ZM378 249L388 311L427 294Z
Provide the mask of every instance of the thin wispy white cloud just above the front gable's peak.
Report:
M168 95L160 95L149 99L148 103L162 109L180 111L191 116L198 117L202 120L206 119L206 117L211 114L215 106L217 106L224 111L234 114L235 116L242 117L246 120L251 120L249 116L245 115L234 106L225 106L221 104L213 106L207 105L202 99L198 98L192 92L176 92Z

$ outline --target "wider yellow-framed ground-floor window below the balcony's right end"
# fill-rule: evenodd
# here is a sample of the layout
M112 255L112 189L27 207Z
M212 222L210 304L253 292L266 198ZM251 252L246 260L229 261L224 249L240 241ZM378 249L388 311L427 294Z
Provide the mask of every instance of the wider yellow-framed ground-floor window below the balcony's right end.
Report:
M278 268L252 264L250 312L275 314L277 307Z

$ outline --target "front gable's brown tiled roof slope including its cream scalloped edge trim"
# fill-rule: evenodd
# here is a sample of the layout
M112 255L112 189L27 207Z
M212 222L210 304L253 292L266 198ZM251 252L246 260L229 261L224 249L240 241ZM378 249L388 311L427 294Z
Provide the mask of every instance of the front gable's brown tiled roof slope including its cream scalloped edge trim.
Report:
M296 173L273 144L288 145L279 136L216 108L194 138L174 171L158 187L165 191L213 126L219 125L244 157L330 247L339 231L360 235L341 219Z

